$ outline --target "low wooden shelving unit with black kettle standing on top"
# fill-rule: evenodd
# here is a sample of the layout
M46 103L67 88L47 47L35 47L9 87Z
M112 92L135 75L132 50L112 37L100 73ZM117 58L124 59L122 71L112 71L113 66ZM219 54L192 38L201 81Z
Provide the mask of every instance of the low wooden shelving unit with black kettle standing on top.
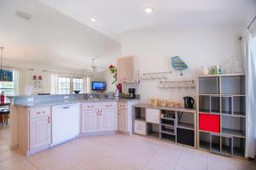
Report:
M195 110L138 104L134 105L133 115L134 125L144 123L144 127L135 126L134 133L196 148Z

